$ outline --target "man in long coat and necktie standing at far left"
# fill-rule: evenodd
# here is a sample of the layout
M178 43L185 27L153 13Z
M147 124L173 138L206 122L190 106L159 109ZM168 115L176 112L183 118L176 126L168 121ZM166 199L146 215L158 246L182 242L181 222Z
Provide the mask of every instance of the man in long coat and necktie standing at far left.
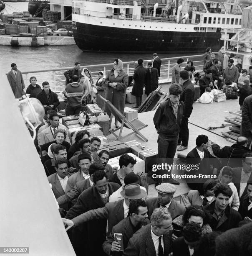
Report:
M17 69L17 64L12 63L10 66L11 70L7 74L7 78L10 83L10 87L15 95L15 98L18 99L25 94L25 83L22 73Z

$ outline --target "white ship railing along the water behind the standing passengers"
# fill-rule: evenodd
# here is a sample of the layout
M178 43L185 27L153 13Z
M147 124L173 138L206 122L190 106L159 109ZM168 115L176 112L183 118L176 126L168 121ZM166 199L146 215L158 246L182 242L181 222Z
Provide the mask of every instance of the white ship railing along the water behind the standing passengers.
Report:
M141 57L141 56L139 56ZM171 70L172 67L176 64L177 59L182 58L184 59L183 66L186 66L186 63L188 60L192 60L194 62L194 67L196 70L203 69L203 55L190 55L190 56L179 56L179 57L173 57L173 58L165 58L161 59L161 76L159 77L159 83L167 83L171 82ZM153 61L153 59L145 60L144 61L144 67L147 67L147 62ZM137 66L137 61L127 61L123 62L123 70L129 75L133 76L134 70ZM88 70L91 72L92 77L94 81L98 79L98 72L102 71L104 76L113 68L113 63L108 64L96 64L96 65L85 65L81 66L81 69L84 67L87 67ZM184 69L182 67L181 69ZM50 88L54 92L62 91L65 87L65 81L66 77L64 76L64 72L68 69L71 69L73 67L62 67L57 69L43 69L43 70L30 70L25 71L23 73L23 78L26 87L30 84L29 79L32 76L35 76L37 78L37 84L39 84L42 87L42 82L47 81L50 84Z

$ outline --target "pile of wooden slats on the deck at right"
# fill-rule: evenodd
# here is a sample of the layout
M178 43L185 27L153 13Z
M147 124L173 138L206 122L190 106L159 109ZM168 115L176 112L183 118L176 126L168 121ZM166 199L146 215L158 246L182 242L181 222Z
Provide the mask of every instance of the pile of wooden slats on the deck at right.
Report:
M232 143L236 143L237 138L240 136L240 128L242 123L242 111L236 111L236 112L229 112L230 114L234 115L234 117L225 118L225 122L231 123L231 126L229 127L229 132L225 133L222 132L222 135L226 137L227 141L230 141Z

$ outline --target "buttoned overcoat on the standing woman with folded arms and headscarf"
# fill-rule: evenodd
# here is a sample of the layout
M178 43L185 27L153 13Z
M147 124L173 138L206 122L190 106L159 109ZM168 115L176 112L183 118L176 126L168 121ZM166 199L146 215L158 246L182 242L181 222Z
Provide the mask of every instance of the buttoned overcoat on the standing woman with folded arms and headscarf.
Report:
M126 89L129 83L129 76L121 70L118 76L115 78L114 70L108 72L105 78L107 89L106 100L109 100L113 106L119 110L122 114L125 106L125 97L126 97ZM111 86L108 86L108 83L116 82L117 86L114 89ZM106 109L108 115L110 115L110 111Z

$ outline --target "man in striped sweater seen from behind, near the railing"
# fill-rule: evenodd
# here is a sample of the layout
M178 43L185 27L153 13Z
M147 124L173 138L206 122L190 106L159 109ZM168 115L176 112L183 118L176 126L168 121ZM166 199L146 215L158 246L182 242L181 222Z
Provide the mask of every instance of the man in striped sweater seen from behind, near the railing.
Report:
M66 116L78 115L81 112L84 92L83 87L78 84L78 76L73 76L73 82L63 90L63 94L67 98Z

